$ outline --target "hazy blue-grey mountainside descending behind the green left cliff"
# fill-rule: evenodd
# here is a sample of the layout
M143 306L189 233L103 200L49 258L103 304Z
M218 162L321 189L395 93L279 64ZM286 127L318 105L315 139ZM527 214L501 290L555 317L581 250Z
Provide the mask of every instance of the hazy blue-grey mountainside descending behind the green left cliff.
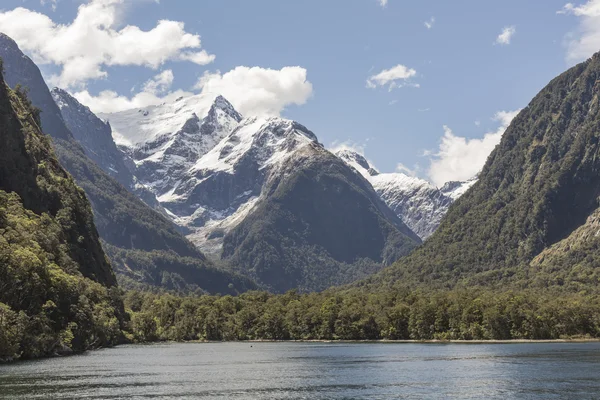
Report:
M97 132L91 124L73 124L78 132L71 133L38 67L6 35L0 36L0 57L7 84L27 87L31 102L41 110L42 130L53 138L61 165L88 196L104 249L123 284L186 291L202 289L212 293L237 293L254 287L248 279L216 268L171 221L144 204L92 160L97 159L104 167L114 161L114 169L120 171L118 177L127 173L117 157L111 158L115 154L114 143L111 146L106 130ZM63 106L63 110L71 122L87 118L98 123L89 110L77 104ZM74 115L79 113L83 115ZM97 148L96 144L106 147Z

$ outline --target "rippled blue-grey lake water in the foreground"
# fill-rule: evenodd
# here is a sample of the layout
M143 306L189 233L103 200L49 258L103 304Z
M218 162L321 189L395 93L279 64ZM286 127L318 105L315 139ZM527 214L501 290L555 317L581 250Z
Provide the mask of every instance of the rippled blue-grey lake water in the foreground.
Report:
M598 399L600 343L131 345L0 366L0 398Z

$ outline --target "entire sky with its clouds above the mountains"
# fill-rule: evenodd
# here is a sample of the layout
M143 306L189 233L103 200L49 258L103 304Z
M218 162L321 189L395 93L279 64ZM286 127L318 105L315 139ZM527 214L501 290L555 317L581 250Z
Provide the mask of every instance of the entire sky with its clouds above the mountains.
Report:
M441 186L600 50L600 0L2 0L0 32L93 111L218 93Z

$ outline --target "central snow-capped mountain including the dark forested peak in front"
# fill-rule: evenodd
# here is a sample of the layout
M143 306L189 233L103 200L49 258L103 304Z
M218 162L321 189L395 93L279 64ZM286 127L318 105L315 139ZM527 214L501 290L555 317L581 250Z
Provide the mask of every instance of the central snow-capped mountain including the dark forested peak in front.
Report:
M295 121L243 117L223 97L202 94L101 117L188 238L264 288L348 283L420 242Z

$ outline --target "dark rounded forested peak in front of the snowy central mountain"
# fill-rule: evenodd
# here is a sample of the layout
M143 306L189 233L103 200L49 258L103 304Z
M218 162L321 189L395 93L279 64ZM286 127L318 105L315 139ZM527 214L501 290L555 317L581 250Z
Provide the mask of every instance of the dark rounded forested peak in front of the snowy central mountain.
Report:
M306 146L282 168L223 244L223 258L264 288L282 293L346 284L420 242L362 176L320 145Z

